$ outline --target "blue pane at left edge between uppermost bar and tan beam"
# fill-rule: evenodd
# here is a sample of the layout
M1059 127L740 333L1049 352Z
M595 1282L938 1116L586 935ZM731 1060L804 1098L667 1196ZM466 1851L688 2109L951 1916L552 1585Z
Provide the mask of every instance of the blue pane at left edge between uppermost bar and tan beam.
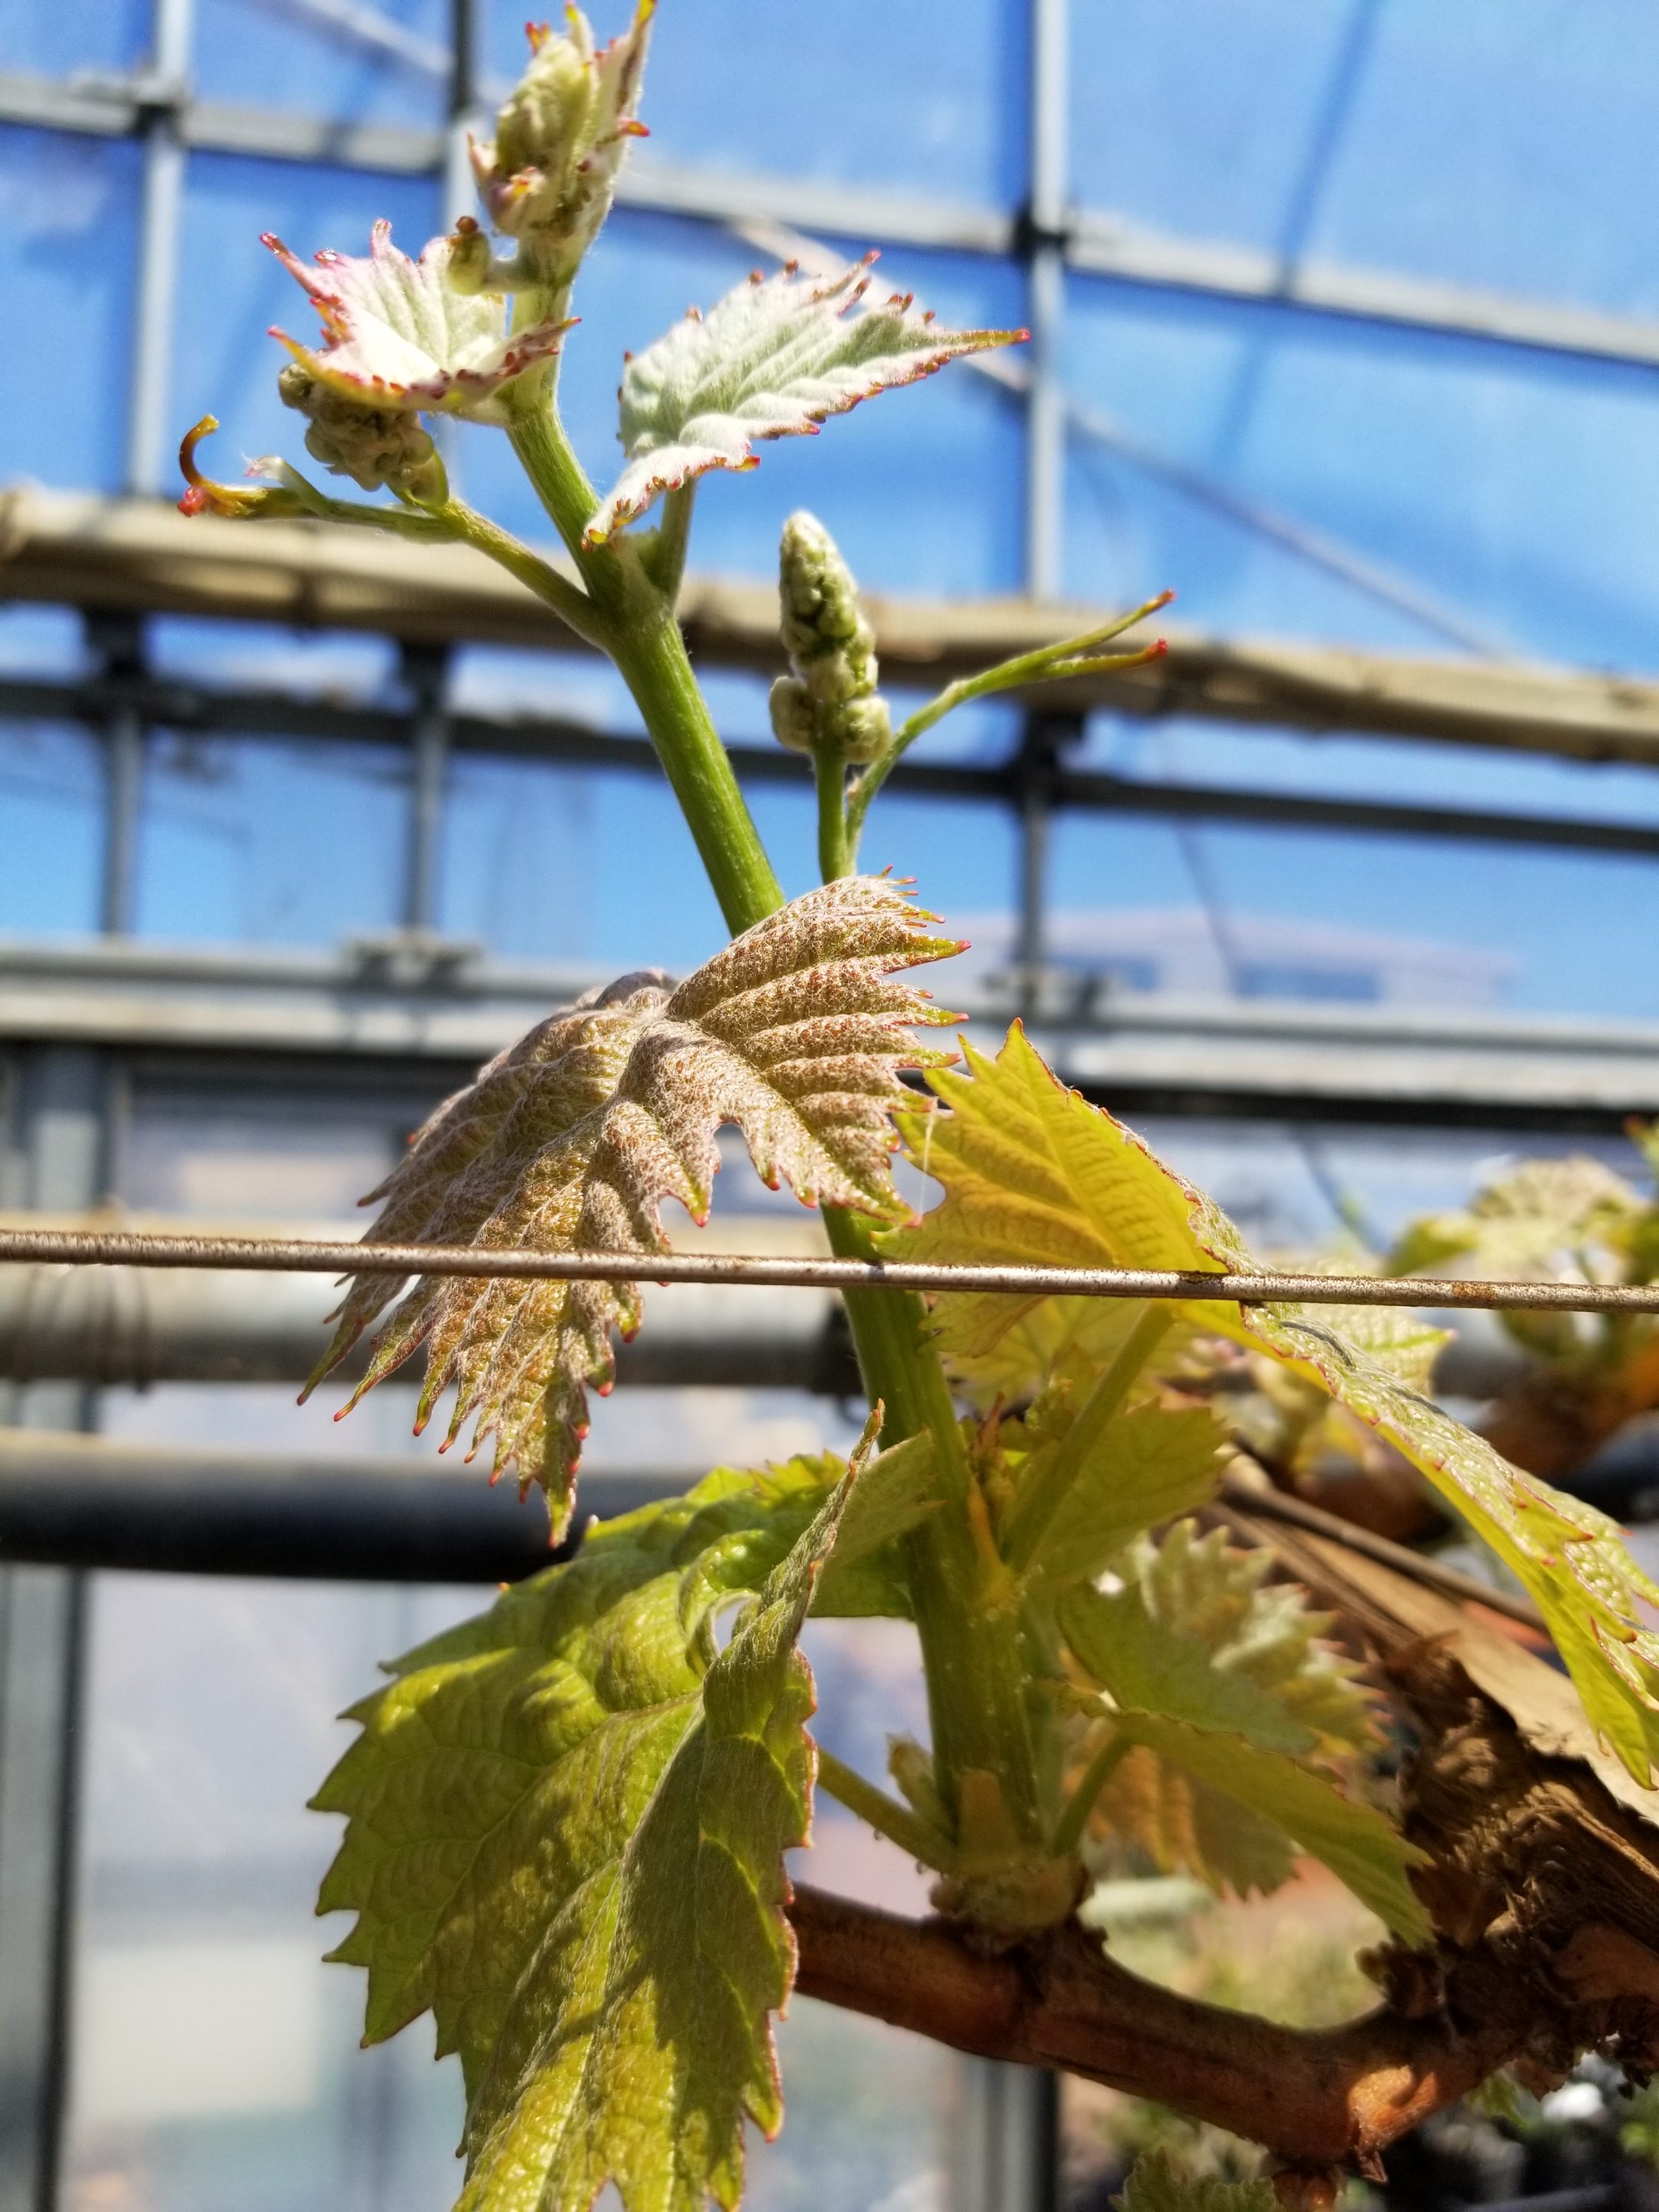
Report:
M122 482L137 177L128 142L0 128L7 314L31 334L11 347L0 482Z

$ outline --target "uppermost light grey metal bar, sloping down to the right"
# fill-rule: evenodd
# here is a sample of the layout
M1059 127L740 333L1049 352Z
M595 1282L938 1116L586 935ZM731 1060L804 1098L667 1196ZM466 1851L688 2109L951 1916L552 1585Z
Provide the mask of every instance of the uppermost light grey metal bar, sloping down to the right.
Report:
M184 144L199 153L327 164L387 177L440 177L445 168L442 131L201 102L155 77L64 84L0 73L0 124L128 137L157 111L175 115ZM918 252L1009 257L1031 243L1015 217L998 208L792 177L723 175L655 159L628 164L617 197L630 208L726 228L783 223ZM1108 276L1139 290L1287 307L1557 358L1659 367L1659 323L1639 316L1599 314L1391 270L1329 261L1287 263L1245 246L1150 230L1108 208L1062 215L1042 239L1057 246L1079 274Z

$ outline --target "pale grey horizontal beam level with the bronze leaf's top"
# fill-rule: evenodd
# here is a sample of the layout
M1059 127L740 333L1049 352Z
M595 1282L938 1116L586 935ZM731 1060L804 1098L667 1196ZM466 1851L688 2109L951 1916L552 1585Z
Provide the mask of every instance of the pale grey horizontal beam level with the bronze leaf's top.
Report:
M173 1053L204 1068L396 1066L436 1091L597 980L420 938L341 953L0 938L0 1042ZM1033 1035L1051 1064L1130 1115L1613 1135L1659 1115L1659 1024L1150 993L1093 993L1084 1009L1086 978L1040 982ZM1013 991L987 991L969 1033L993 1051L1015 1011Z

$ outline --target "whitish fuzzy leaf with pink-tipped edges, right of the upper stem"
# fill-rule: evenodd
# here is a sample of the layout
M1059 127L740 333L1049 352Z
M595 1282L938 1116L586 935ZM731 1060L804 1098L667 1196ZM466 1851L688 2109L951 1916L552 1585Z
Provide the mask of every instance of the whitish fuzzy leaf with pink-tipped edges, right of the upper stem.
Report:
M659 491L710 469L754 469L765 438L810 436L834 414L914 385L958 354L1013 345L1020 330L940 330L907 296L869 301L869 268L838 276L750 276L723 301L635 354L622 374L628 456L586 529L602 544Z

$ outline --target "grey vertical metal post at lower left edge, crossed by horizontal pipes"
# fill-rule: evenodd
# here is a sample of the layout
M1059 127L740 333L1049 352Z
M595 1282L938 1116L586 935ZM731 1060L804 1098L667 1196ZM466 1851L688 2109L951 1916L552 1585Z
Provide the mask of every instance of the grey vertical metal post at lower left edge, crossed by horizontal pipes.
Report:
M100 1053L24 1060L9 1181L31 1208L100 1199L108 1152ZM93 1394L35 1383L13 1398L27 1429L88 1429ZM69 2101L80 1710L86 1577L0 1568L0 2212L53 2212Z

